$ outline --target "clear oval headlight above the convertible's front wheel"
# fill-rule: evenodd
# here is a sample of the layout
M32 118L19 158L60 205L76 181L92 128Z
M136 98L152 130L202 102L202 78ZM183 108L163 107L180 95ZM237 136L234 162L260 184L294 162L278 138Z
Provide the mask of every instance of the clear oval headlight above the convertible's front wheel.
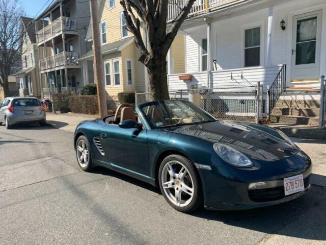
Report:
M253 162L241 152L231 148L231 146L221 143L213 144L214 151L227 163L236 167L251 167Z

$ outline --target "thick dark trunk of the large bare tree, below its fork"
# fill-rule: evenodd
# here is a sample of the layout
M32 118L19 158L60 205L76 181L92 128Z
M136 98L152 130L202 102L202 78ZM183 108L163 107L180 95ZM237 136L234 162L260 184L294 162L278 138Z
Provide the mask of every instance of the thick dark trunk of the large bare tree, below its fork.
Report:
M169 100L167 62L158 58L150 61L147 66L150 91L154 101Z

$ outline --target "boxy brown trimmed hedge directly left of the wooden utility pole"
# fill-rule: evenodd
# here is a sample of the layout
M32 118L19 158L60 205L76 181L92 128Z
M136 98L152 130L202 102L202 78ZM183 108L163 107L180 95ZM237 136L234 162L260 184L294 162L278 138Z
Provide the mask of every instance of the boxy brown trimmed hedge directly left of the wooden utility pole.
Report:
M69 108L73 113L98 114L97 95L71 95L68 97Z

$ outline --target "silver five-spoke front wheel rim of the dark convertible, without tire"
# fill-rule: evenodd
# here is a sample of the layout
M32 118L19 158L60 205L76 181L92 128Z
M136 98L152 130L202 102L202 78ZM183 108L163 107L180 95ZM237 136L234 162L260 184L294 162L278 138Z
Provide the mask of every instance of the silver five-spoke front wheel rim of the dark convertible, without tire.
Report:
M167 198L176 206L185 207L193 200L193 178L181 162L172 160L165 164L161 184Z

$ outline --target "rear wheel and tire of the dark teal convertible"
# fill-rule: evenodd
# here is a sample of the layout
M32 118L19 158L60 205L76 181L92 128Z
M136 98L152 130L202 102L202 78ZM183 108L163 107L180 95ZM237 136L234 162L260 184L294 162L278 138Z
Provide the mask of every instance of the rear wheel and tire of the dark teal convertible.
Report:
M84 154L85 150L87 151L86 155ZM77 139L75 151L79 167L84 171L90 171L93 168L92 153L90 144L84 135L79 136Z

